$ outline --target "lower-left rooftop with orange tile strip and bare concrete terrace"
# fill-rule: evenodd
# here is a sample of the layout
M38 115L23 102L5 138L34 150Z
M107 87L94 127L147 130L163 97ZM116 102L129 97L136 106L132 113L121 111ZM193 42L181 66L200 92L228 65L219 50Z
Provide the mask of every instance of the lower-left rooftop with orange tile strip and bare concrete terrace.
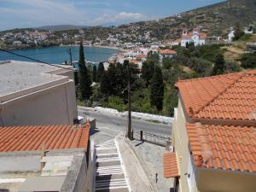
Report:
M0 127L0 190L73 191L84 177L89 131L89 123Z

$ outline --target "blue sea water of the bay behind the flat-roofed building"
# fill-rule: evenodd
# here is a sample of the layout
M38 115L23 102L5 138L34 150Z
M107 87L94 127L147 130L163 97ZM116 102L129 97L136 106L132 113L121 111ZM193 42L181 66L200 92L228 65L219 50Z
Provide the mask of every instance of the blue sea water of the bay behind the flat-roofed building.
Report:
M79 60L79 46L63 46L63 47L47 47L47 48L31 48L31 49L17 49L12 50L15 54L25 55L38 61L44 61L50 64L61 64L65 61L69 62L68 49L72 50L73 61ZM92 63L108 61L108 58L118 53L118 49L100 48L100 47L84 47L85 60ZM0 61L17 60L17 61L30 61L26 58L12 55L0 51Z

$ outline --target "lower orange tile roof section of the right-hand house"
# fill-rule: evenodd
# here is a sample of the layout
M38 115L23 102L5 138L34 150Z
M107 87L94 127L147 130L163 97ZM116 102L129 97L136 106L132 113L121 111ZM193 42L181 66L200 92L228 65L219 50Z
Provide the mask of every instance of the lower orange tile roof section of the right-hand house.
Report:
M186 124L195 166L256 172L256 127Z

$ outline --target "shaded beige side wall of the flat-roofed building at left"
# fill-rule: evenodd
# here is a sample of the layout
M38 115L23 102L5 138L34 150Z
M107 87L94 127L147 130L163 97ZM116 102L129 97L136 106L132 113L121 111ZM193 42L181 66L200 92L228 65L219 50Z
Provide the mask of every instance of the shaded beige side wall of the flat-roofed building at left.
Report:
M0 124L73 124L77 106L73 80L1 103Z

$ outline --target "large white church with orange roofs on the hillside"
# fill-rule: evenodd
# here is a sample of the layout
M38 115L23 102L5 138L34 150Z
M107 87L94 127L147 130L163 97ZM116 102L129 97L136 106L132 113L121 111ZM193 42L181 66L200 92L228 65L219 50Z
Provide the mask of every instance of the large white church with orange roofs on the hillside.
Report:
M185 47L186 44L194 43L195 46L206 44L207 34L201 32L200 28L193 29L193 32L183 30L181 46Z

